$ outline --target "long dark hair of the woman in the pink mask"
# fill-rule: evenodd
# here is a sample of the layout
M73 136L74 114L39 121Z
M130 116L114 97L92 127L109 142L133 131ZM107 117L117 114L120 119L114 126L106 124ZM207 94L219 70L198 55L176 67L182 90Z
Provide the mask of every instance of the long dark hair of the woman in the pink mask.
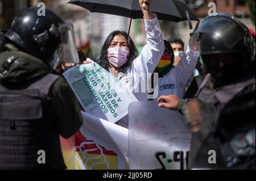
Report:
M121 68L119 70L119 72L126 73L127 68L129 68L129 66L132 64L133 60L138 57L139 52L138 52L133 40L131 39L131 37L124 31L113 31L106 38L105 43L101 49L100 60L98 60L98 64L100 66L102 66L102 68L104 68L105 70L109 71L109 60L108 60L108 56L107 56L108 48L116 35L124 36L128 43L128 47L129 47L129 51L130 51L130 53L127 56L128 60L124 65L121 66Z

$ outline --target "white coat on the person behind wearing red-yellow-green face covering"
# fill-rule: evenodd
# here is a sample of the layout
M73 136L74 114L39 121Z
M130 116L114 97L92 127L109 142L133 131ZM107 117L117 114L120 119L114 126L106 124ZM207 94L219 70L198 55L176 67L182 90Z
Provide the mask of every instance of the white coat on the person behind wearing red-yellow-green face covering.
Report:
M188 46L179 65L172 68L164 77L158 78L158 96L173 94L182 99L185 87L196 67L198 56L199 52L194 52Z

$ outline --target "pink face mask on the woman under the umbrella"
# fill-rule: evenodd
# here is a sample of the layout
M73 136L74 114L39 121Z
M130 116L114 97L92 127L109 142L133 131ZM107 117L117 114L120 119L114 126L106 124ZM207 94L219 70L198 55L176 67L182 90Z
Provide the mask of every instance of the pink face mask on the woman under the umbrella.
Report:
M114 47L108 49L109 62L115 67L119 68L127 62L129 51L121 47Z

